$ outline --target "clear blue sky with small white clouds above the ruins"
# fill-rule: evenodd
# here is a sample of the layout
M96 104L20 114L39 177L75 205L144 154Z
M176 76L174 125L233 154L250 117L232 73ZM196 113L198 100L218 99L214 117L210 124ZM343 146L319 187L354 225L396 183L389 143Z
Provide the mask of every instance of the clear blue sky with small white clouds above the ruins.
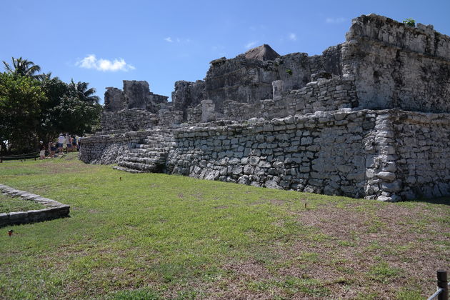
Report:
M321 54L361 14L413 18L450 35L450 0L3 0L0 13L1 61L21 56L63 81L89 82L102 102L123 79L170 96L175 81L203 79L209 61L261 44Z

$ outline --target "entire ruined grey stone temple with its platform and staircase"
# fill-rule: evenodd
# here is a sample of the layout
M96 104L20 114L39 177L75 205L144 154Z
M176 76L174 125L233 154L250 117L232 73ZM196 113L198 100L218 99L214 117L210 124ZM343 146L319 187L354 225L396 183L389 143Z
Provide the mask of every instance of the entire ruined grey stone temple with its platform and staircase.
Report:
M262 45L171 96L108 88L80 159L381 201L450 195L450 37L431 25L359 16L322 55Z

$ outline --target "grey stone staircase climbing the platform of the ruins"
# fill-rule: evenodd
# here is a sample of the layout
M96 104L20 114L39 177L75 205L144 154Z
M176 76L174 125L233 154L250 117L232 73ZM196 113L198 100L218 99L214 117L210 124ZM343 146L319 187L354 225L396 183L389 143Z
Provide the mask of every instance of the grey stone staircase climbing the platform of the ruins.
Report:
M141 144L134 144L113 168L130 173L161 173L173 144L171 131L154 129Z

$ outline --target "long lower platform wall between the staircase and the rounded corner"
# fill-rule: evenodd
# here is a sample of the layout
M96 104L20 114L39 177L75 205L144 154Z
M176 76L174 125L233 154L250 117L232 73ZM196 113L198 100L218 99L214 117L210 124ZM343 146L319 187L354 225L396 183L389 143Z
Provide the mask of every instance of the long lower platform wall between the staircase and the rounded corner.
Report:
M366 196L366 136L376 112L318 112L256 124L191 126L174 131L169 174Z

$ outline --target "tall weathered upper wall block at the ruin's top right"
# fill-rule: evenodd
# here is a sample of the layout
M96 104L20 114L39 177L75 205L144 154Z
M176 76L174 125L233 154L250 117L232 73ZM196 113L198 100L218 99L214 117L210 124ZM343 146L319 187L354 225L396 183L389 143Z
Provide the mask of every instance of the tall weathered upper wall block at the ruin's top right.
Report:
M363 15L352 21L341 54L361 108L450 112L450 37L432 26Z

